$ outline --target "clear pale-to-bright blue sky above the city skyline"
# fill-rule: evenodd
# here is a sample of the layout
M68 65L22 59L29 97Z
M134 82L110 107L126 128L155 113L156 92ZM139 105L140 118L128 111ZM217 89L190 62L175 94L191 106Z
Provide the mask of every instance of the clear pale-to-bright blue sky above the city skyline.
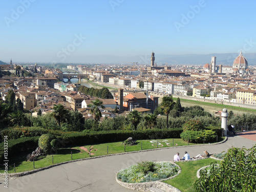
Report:
M256 52L253 0L0 0L0 5L2 61L86 62L91 55L152 50Z

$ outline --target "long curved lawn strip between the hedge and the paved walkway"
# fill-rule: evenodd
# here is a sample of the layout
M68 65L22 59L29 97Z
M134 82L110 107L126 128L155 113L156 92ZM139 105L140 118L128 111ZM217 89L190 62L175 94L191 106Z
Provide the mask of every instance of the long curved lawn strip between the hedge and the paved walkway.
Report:
M219 141L223 140L223 138L219 138ZM141 144L142 143L142 144ZM75 147L67 147L67 148L59 148L53 155L47 155L46 158L35 161L35 169L46 167L55 163L71 161L75 159L89 158L101 155L108 154L116 154L125 152L133 152L140 151L141 146L142 150L149 150L153 148L162 148L162 147L170 147L170 146L185 146L188 145L187 142L184 142L182 139L159 139L158 144L157 140L137 140L135 145L123 145L122 142L114 142L114 143L103 143L103 144L95 144L95 145L84 145L81 149L79 146ZM194 143L189 143L189 145L195 145ZM87 148L87 151L84 149ZM91 154L89 155L89 148L91 148ZM72 159L71 159L72 152ZM26 161L26 154L20 154L15 158L11 158L9 160L9 165L13 165L15 163L16 172L25 172L28 170L34 169L34 164L32 161ZM53 162L52 162L53 161ZM4 167L0 167L0 173L4 173ZM9 166L8 173L15 173L14 166Z

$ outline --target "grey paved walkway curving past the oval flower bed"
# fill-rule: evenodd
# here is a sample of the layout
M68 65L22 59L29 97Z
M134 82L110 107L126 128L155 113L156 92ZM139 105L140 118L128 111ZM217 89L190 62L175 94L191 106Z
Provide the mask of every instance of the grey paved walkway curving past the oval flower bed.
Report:
M204 150L209 153L220 153L231 146L250 148L256 144L256 132L239 135L241 136L228 137L226 142L217 145L172 147L67 163L28 176L9 179L8 189L4 187L4 181L0 180L0 191L134 191L120 186L115 181L118 170L144 160L172 161L177 152L182 156L184 151L187 151L190 157L194 157L203 154ZM253 138L253 140L247 138Z

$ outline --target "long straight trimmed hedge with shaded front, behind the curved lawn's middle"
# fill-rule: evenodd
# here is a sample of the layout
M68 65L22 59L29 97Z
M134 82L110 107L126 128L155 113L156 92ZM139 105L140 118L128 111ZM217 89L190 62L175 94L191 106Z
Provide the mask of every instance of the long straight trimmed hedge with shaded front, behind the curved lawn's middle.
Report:
M90 132L90 133L70 133L61 135L60 139L71 145L86 145L93 143L109 143L124 141L129 137L136 140L144 139L162 139L162 138L180 138L182 129L176 130L141 130L141 131L108 131L108 132Z

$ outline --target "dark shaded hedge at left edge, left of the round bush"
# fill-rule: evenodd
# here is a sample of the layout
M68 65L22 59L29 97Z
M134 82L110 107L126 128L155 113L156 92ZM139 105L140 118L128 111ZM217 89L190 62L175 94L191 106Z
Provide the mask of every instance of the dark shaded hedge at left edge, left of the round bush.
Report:
M8 158L20 154L22 152L32 152L37 148L39 136L23 137L8 140ZM4 142L0 143L0 161L4 159Z

